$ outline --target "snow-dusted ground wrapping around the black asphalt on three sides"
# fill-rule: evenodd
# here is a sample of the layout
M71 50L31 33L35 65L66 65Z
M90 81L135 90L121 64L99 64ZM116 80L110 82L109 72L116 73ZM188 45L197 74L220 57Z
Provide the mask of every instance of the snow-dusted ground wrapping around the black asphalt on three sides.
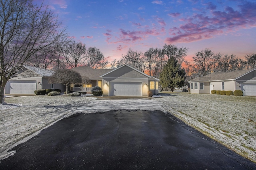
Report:
M74 113L142 109L168 111L256 162L256 98L188 93L165 94L151 100L96 100L87 96L6 98L8 104L0 105L0 158L14 143L28 140Z

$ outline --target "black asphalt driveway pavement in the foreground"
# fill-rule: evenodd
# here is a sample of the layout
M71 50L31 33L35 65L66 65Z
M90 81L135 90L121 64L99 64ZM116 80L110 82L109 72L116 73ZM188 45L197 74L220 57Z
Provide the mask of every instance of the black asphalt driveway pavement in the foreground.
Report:
M162 111L78 113L13 150L0 169L256 169Z

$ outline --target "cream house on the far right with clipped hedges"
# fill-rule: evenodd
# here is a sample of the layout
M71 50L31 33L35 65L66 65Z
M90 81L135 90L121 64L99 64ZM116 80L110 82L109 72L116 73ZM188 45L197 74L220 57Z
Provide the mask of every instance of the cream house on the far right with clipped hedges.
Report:
M242 90L244 96L256 96L256 68L233 72L214 72L190 80L190 93L210 93L212 90Z

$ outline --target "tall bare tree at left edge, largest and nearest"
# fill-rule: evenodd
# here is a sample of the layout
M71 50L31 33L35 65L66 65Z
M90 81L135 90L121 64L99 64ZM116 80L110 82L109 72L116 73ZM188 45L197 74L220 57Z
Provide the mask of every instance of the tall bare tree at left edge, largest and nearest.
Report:
M66 41L56 16L32 0L0 0L0 103L7 81L31 56Z

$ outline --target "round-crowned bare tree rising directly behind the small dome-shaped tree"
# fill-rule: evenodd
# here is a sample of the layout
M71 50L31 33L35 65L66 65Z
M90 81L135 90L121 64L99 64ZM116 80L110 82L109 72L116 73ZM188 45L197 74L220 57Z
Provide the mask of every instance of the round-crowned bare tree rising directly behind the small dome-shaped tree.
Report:
M86 47L82 42L72 42L66 48L62 48L62 55L71 68L84 66L88 59Z

